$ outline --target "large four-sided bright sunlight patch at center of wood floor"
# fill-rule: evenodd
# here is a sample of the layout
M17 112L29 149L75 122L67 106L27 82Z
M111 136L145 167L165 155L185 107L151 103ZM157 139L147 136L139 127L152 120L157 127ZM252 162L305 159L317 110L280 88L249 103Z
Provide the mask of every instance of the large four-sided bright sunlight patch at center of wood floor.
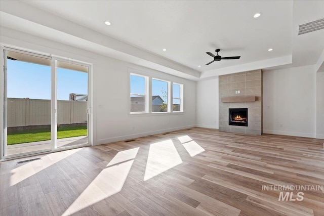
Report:
M182 163L172 140L150 145L145 168L144 181L149 180L172 167Z

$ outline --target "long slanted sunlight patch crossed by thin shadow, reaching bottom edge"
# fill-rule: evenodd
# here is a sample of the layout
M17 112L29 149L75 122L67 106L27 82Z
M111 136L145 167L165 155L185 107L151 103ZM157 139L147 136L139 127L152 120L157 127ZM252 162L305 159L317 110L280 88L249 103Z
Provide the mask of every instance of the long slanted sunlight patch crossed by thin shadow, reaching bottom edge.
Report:
M107 165L108 167L99 173L82 194L66 209L63 215L76 213L121 191L134 162L134 160L130 159L136 157L138 150L139 147L118 152L108 163L111 165Z

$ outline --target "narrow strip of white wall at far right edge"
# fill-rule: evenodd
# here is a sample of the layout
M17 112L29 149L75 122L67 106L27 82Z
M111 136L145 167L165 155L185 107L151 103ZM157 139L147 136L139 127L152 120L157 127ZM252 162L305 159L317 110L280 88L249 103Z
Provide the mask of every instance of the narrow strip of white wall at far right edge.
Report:
M316 138L324 139L324 71L316 73Z

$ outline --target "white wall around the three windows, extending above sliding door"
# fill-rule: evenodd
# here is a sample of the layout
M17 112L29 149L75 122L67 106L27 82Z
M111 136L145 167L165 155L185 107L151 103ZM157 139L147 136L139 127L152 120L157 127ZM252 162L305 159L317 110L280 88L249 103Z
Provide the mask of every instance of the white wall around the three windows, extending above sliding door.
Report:
M93 64L94 144L163 133L195 125L195 81L115 60L9 28L2 27L0 32L0 42L3 44ZM128 68L144 71L156 78L184 84L184 113L130 116L128 114Z

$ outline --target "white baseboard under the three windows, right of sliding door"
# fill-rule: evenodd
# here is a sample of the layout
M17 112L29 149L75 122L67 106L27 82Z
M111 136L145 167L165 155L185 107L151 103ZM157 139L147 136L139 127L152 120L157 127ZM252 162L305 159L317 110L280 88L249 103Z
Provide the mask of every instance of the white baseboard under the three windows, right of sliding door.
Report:
M120 136L120 137L113 137L113 138L108 138L108 139L101 139L97 140L94 146L96 145L101 145L101 144L106 144L106 143L113 143L113 142L118 142L118 141L123 141L123 140L129 140L129 139L135 139L139 137L145 137L145 136L150 136L150 135L155 135L155 134L162 134L162 133L167 133L167 132L172 132L172 131L178 131L180 129L186 129L186 128L191 128L195 127L196 125L186 125L186 126L181 126L181 127L173 127L173 128L167 128L167 129L160 129L157 131L150 131L150 132L145 132L145 133L139 133L139 134L131 134L131 135L126 135L126 136Z

